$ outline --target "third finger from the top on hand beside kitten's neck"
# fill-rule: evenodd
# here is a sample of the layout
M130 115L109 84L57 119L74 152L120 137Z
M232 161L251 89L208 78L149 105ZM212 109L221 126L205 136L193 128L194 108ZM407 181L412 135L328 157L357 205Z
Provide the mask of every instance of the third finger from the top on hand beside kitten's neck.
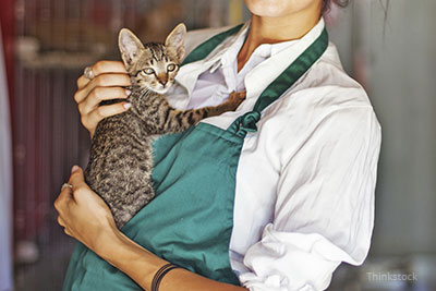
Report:
M78 111L81 114L87 114L96 109L102 100L125 99L130 93L130 90L122 87L96 87L87 98L78 104Z

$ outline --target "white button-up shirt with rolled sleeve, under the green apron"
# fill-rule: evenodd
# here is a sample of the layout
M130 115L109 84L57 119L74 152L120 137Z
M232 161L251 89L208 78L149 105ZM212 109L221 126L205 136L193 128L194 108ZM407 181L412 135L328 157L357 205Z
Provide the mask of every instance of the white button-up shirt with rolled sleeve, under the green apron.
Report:
M246 89L234 112L203 122L227 129L322 33L262 45L237 72L250 22L206 59L181 68L177 108L218 105ZM218 33L216 31L216 33ZM187 49L214 34L190 33ZM253 291L324 290L341 262L365 259L374 225L382 130L364 89L329 44L322 58L262 114L240 157L230 262Z

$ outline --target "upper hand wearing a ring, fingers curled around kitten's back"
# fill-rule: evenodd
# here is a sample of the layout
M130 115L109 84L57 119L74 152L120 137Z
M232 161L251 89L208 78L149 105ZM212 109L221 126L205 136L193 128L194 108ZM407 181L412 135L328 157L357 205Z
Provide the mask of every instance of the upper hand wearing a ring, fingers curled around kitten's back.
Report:
M90 133L90 137L100 120L122 113L131 107L126 101L99 106L100 101L125 99L130 92L123 87L132 85L128 71L120 61L99 61L92 69L94 78L88 80L81 75L74 94L81 122Z

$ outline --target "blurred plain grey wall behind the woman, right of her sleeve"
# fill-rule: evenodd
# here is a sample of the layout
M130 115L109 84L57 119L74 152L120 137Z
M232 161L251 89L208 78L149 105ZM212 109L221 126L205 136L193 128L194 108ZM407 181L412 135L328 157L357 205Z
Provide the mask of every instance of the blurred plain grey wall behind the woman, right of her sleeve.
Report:
M383 130L371 254L435 253L436 1L390 1L385 22L386 3L354 1L330 29Z

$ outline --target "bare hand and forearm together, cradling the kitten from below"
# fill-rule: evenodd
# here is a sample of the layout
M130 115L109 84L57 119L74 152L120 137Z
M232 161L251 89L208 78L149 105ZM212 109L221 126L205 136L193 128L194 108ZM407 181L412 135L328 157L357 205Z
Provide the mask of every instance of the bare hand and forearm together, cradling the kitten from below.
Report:
M119 231L108 206L85 183L83 170L74 166L71 172L69 184L72 187L63 187L55 202L59 225L66 234L149 290L155 274L168 262ZM245 288L214 281L185 269L171 270L165 276L159 290L246 291Z

